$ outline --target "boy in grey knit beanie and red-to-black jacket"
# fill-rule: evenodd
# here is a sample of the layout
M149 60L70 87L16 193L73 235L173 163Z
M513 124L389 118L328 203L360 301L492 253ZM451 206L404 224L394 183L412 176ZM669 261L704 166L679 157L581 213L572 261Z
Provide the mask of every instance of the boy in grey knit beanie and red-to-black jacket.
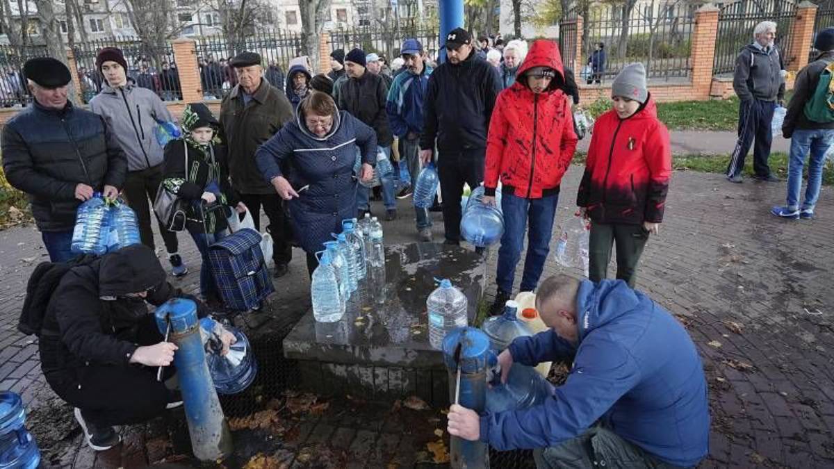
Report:
M576 204L590 218L590 280L605 279L616 243L617 279L634 288L643 246L663 221L672 155L642 63L622 69L611 98L613 108L594 124Z

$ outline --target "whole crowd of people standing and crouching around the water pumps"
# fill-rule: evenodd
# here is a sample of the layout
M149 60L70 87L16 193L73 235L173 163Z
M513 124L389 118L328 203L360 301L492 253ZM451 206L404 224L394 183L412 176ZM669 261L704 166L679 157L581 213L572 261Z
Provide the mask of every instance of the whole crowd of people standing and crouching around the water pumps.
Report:
M739 145L727 169L732 182L741 182L753 134L758 179L775 180L766 164L770 134L762 130L769 132L784 89L775 34L774 23L757 26L755 41L737 61L741 111ZM90 446L107 449L118 443L113 425L142 421L179 402L173 384L153 381L149 372L170 365L175 350L148 330L144 302L184 295L168 285L154 254L148 200L160 184L188 201L186 228L203 255L201 298L192 298L202 311L203 302L221 306L206 255L227 235L230 217L249 210L260 230L263 209L264 229L274 240L274 276L287 274L294 245L304 250L312 275L315 253L341 221L370 212L372 191L359 182L374 179L378 162L387 159L398 167L379 178L389 221L398 217L395 180L414 185L426 164L436 164L446 245L460 245L465 184L483 184L485 204L497 204L500 191L505 231L492 314L513 296L526 235L520 290L537 292L536 308L550 329L517 339L500 354L502 379L514 363L573 360L565 385L542 406L485 415L452 406L452 435L502 450L536 448L543 467L695 466L706 456L709 413L696 347L666 310L634 289L641 252L659 233L671 178L670 136L657 118L645 68L627 64L613 79L612 106L596 120L575 196L577 215L590 224L589 279L557 275L539 285L562 178L575 155L579 88L555 42L540 39L528 48L521 40L495 40L489 49L489 38L475 42L463 28L441 39L441 63L407 38L391 67L376 53L339 49L329 73L314 73L300 57L285 78L274 63L264 67L258 53L218 63L209 57L201 61L203 87L215 75L231 87L219 116L204 103L188 103L179 121L183 136L164 148L153 127L173 116L157 93L141 86L146 69L130 78L118 48L98 53L95 73L103 83L89 111L68 102L71 77L63 63L26 63L34 104L3 129L3 169L10 184L29 194L50 259L75 263L48 301L49 339L40 350L48 383L77 407ZM785 218L812 217L821 161L834 144L834 113L812 105L816 88L828 86L819 84L826 70L831 79L834 28L819 33L815 47L821 55L797 75L782 126L792 139L791 175L787 205L774 214ZM594 76L605 62L603 49L600 44L590 58ZM76 210L96 192L127 200L142 245L95 260L74 257ZM427 209L414 209L414 226L417 239L433 240ZM159 230L172 274L186 275L176 233ZM614 246L616 280L606 280ZM118 385L107 387L114 380ZM111 389L130 398L110 399L116 391L105 390Z

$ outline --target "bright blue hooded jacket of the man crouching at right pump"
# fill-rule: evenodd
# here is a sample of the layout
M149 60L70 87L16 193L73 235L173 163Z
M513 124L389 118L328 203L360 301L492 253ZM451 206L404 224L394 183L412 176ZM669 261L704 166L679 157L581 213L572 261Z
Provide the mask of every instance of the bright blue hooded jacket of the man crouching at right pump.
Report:
M482 416L481 440L499 451L555 446L601 419L661 461L696 466L710 416L701 357L683 326L622 280L583 280L576 310L578 347L552 330L510 344L523 365L575 354L565 384L541 406Z

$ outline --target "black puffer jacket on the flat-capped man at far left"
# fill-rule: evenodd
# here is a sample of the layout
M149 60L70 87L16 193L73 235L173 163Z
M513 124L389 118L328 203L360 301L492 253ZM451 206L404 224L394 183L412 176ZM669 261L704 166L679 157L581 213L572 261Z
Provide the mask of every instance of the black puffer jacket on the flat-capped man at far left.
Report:
M81 204L75 186L122 189L128 159L101 116L72 103L60 111L34 103L3 128L3 170L29 194L38 229L64 231Z

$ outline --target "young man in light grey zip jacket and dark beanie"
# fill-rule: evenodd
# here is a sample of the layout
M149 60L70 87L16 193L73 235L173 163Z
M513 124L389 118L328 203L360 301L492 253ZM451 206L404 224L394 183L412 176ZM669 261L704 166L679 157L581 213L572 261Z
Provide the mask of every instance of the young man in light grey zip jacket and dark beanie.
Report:
M128 82L128 63L120 49L103 48L98 51L96 68L103 74L107 84L102 87L101 93L90 100L90 110L107 121L124 153L128 155L124 198L136 212L142 244L155 250L148 199L156 197L159 184L162 184L164 156L163 148L153 137L153 129L157 122L172 121L173 117L156 93ZM147 71L147 68L144 69ZM188 274L188 268L178 253L177 234L168 231L161 222L158 225L165 250L168 251L173 276Z

